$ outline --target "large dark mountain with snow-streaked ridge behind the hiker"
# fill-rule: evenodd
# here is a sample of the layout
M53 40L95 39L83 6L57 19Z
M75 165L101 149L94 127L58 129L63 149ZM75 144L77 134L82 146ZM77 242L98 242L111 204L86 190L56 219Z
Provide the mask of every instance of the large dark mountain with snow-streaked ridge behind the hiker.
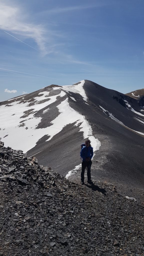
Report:
M0 128L6 147L67 177L79 175L80 144L89 138L95 179L144 185L144 104L137 97L88 80L51 85L1 102Z

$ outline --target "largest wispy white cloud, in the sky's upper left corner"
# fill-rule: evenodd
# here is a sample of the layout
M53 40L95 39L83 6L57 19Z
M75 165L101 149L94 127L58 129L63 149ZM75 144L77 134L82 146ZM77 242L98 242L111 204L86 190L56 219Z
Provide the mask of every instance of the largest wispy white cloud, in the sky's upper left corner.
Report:
M22 8L14 7L0 1L0 29L11 31L12 33L32 38L39 46L40 51L46 55L49 53L45 45L46 30L42 25L27 23L23 18Z

